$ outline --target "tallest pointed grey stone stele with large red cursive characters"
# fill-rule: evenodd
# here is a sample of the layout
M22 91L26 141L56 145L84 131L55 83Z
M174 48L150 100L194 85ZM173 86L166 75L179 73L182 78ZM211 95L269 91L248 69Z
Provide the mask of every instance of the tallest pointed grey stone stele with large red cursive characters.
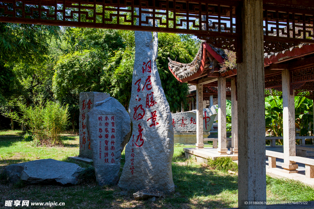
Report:
M142 14L142 20L145 20ZM151 23L150 23L151 24ZM157 33L135 31L135 61L129 113L133 123L125 148L122 190L174 192L173 128L169 104L156 67Z

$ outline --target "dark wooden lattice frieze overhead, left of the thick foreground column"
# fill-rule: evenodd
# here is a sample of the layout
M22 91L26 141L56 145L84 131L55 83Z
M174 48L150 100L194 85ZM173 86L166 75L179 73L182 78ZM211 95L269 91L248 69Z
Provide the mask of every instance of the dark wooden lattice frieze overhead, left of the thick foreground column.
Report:
M0 0L0 22L220 35L237 39L238 2ZM138 11L138 15L137 12ZM142 21L142 14L147 14ZM203 18L203 19L202 19ZM152 26L147 26L149 20ZM138 25L136 25L138 22ZM240 21L241 22L241 21Z

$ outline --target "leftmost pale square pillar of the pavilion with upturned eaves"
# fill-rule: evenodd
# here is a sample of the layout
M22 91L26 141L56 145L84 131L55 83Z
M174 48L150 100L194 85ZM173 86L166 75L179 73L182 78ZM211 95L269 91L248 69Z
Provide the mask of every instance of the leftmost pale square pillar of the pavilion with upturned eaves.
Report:
M203 85L196 85L196 144L197 149L203 149Z

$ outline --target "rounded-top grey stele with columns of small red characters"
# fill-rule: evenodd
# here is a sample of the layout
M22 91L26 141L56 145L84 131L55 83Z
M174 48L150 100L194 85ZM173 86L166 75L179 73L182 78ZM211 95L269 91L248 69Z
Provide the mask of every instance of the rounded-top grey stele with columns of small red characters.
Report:
M121 152L130 138L130 116L112 97L96 102L87 115L97 183L100 186L116 185Z

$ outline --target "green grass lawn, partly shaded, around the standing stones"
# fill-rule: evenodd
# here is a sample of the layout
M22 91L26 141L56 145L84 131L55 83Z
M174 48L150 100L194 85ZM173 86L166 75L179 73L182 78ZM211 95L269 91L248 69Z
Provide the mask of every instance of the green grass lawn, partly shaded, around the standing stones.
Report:
M1 132L2 133L2 132ZM33 147L22 137L0 135L0 172L5 166L35 159L52 158L77 163L81 167L90 164L74 162L68 156L78 155L78 136L65 134L62 147ZM226 171L212 170L207 164L186 159L183 147L176 146L172 160L172 174L176 191L155 202L135 201L129 191L119 194L116 186L98 186L94 181L74 186L26 185L20 187L0 180L0 208L6 200L30 200L30 202L65 202L54 208L171 208L204 209L237 207L238 177ZM124 152L121 166L124 165ZM267 177L267 197L271 200L314 200L314 190L296 181L284 181ZM300 199L301 198L301 199ZM8 207L11 208L11 207ZM49 206L29 206L49 208Z

